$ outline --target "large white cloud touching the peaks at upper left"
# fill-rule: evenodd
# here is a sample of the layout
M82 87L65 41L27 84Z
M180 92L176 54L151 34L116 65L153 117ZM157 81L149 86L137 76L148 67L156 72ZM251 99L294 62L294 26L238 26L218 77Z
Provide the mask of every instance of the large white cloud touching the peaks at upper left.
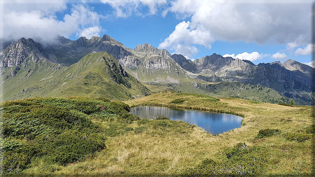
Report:
M97 14L89 6L72 5L71 13L58 20L56 13L64 11L66 1L16 1L18 8L11 3L4 4L2 12L1 36L4 40L17 40L21 37L32 38L42 44L52 43L59 35L69 37L74 34L92 35L102 31L99 25L102 15ZM25 8L23 5L29 7ZM46 9L44 8L46 7ZM43 9L40 9L43 8Z

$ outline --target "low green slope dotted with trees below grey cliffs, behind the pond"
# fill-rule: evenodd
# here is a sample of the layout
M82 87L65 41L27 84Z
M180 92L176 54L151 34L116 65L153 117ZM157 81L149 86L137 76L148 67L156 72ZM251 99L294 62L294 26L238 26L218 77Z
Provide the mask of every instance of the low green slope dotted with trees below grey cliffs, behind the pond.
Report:
M154 84L154 83L150 83ZM146 85L150 90L155 92L164 92L172 90L174 92L188 92L211 95L213 97L235 97L246 100L261 101L266 103L285 103L290 104L289 99L281 96L272 88L253 85L250 83L230 83L216 82L209 83L201 80L181 82L180 84L160 84L155 86Z

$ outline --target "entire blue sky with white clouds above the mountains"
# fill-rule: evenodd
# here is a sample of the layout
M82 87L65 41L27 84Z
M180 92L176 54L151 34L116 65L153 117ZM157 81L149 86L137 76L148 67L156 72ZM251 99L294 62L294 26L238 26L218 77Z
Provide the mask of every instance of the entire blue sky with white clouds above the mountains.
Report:
M1 0L0 37L111 36L195 60L213 53L254 64L312 60L312 0Z

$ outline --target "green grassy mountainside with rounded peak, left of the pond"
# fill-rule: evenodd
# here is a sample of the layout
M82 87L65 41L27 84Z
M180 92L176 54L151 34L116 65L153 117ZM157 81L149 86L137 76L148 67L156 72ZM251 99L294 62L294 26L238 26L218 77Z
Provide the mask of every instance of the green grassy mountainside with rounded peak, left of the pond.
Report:
M92 53L68 68L47 60L24 61L27 67L4 68L3 100L40 97L88 96L128 100L150 94L106 52Z

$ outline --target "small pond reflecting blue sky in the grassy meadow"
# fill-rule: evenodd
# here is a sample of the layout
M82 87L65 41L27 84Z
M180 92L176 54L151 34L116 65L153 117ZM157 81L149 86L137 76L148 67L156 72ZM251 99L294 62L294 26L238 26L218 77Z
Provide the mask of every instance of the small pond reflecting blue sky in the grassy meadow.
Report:
M241 126L242 117L211 111L192 109L171 109L158 106L137 106L130 109L142 119L153 119L155 116L167 116L171 120L180 120L195 124L211 134L223 133Z

